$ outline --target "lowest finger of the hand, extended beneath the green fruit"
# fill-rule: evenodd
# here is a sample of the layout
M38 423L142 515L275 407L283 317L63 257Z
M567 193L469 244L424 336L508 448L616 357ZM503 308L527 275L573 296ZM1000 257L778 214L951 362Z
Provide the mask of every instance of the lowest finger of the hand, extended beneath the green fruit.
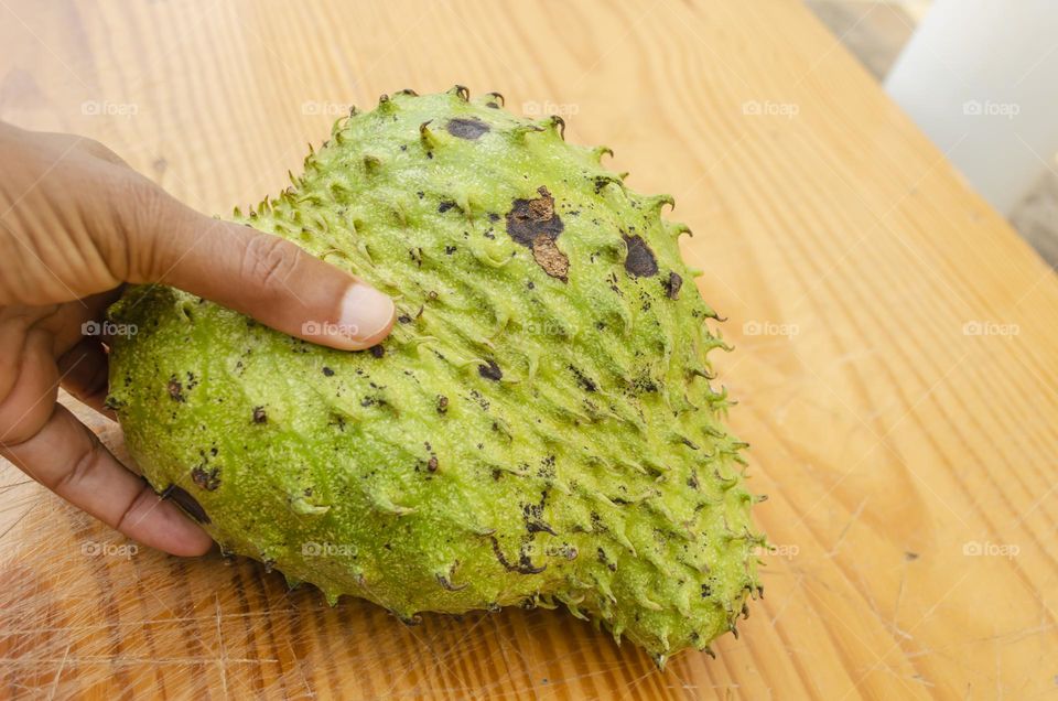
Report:
M63 406L33 436L0 454L74 506L129 538L176 556L199 556L212 540L172 502L126 470Z

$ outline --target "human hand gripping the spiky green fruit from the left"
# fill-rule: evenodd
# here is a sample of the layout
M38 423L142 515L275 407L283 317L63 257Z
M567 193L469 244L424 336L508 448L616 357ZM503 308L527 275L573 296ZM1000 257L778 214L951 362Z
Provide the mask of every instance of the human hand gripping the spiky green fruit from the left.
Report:
M109 413L107 354L86 323L126 282L161 282L355 350L389 334L392 302L294 244L194 212L90 139L0 122L0 455L139 542L202 554L205 531L57 403L63 387Z

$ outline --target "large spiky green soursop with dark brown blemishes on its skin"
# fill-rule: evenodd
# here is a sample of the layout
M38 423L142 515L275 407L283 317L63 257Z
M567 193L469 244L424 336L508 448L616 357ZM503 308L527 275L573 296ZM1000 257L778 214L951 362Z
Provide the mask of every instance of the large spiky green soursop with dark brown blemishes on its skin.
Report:
M763 538L688 229L563 127L462 87L338 120L236 218L391 294L392 335L335 350L134 288L109 403L225 552L332 603L565 605L662 664L735 629Z

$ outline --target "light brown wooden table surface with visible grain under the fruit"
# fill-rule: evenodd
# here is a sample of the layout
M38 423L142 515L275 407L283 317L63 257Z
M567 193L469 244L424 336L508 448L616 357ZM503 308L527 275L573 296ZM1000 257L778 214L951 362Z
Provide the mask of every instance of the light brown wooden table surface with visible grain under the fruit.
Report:
M6 466L0 693L1058 694L1058 284L799 2L0 0L0 118L206 212L403 87L499 90L612 145L695 233L775 543L741 638L658 672L561 612L409 628L163 557Z

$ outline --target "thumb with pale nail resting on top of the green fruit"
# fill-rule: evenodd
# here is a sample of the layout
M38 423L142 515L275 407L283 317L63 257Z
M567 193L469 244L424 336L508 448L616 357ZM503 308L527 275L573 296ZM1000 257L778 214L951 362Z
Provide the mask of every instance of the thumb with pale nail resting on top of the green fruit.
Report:
M132 282L163 282L322 345L359 350L393 326L392 300L296 245L248 226L199 214L160 193L172 207L130 251ZM170 216L174 214L175 216Z

